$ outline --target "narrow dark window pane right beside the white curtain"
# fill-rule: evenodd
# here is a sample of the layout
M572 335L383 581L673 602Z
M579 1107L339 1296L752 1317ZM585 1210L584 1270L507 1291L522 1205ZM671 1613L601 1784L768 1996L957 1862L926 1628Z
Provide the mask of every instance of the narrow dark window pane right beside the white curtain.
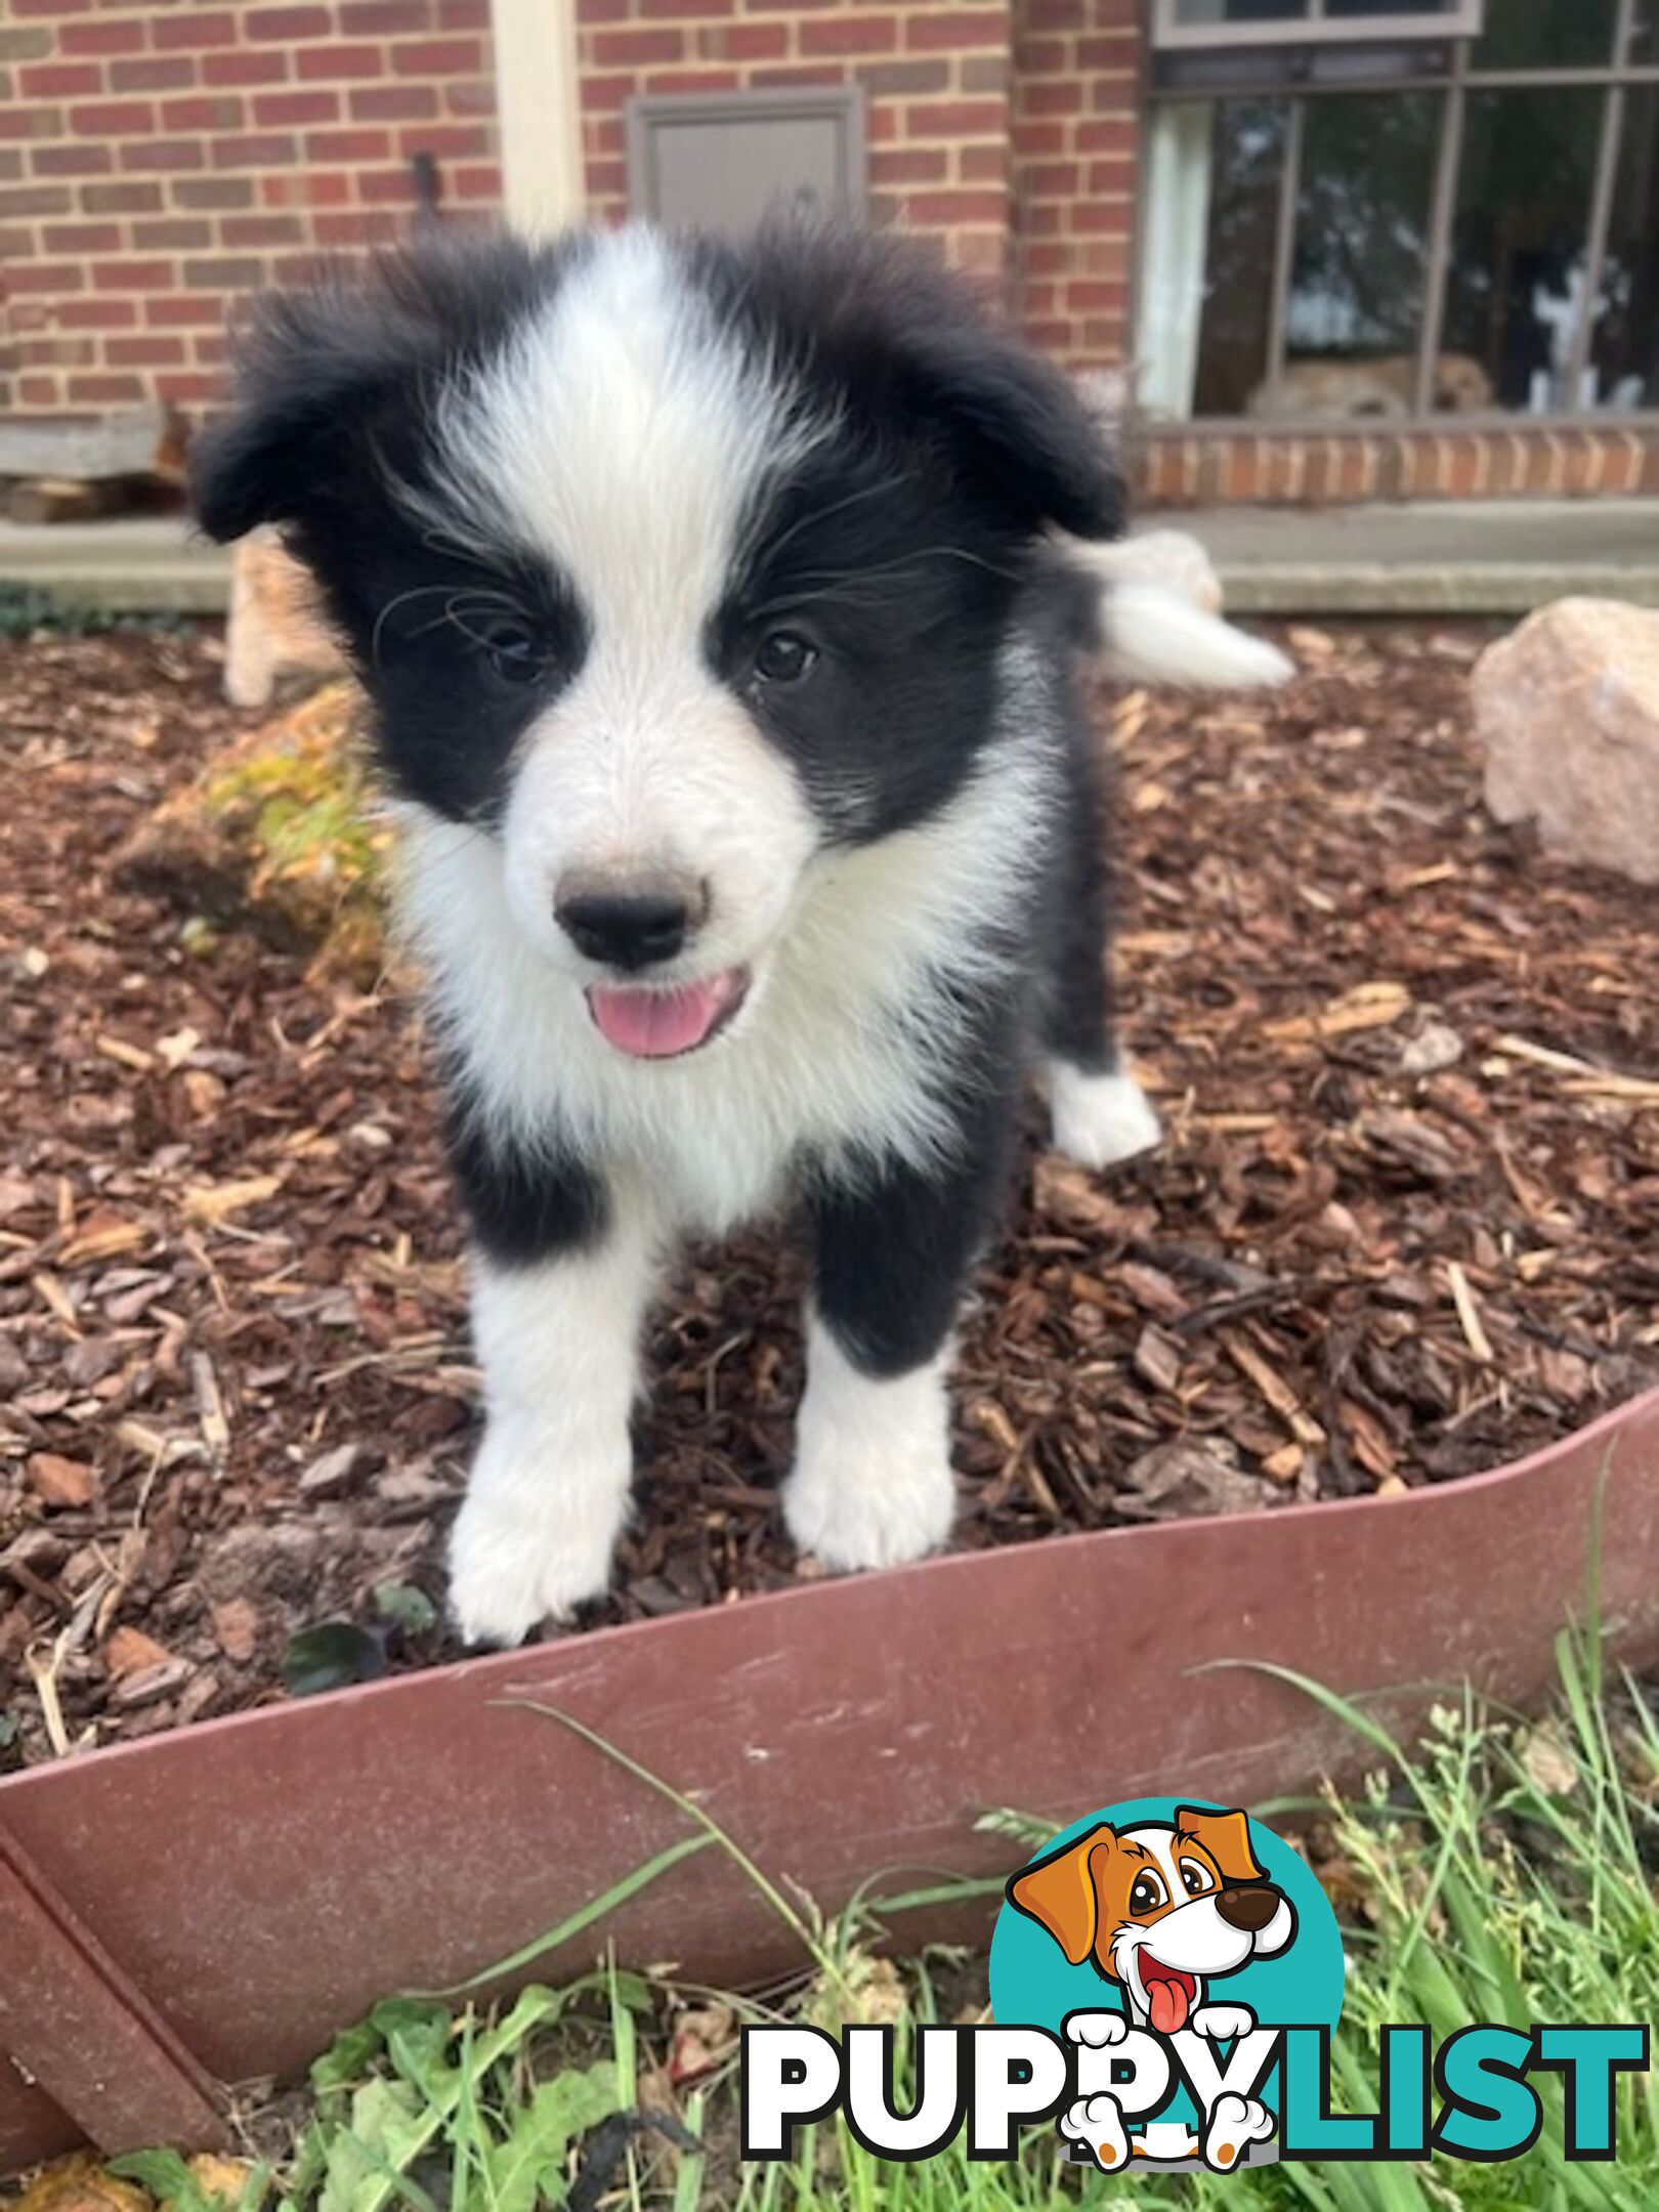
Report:
M1281 100L1219 100L1210 131L1210 217L1194 414L1243 414L1267 365L1279 179L1290 111Z

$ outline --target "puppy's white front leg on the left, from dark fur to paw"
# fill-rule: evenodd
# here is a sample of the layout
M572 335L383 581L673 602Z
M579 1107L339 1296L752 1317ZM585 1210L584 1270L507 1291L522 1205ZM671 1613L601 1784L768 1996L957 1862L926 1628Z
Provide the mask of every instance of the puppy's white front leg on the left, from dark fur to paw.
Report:
M646 1228L626 1217L560 1259L476 1259L484 1442L449 1544L449 1604L469 1644L518 1644L611 1582L650 1276Z

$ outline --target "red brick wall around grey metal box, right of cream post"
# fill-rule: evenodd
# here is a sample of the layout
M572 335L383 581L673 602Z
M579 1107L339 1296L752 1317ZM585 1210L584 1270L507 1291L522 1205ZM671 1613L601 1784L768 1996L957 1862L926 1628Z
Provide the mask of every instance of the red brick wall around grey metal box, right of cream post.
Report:
M588 208L628 208L635 93L863 84L874 212L964 270L1009 265L1006 0L577 0Z

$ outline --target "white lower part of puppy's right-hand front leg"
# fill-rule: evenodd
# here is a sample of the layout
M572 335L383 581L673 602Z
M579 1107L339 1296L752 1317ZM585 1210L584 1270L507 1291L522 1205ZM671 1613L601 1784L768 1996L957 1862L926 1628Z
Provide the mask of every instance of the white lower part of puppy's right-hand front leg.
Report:
M830 1568L902 1566L936 1551L956 1520L949 1347L925 1367L863 1374L834 1334L807 1325L807 1389L783 1520Z

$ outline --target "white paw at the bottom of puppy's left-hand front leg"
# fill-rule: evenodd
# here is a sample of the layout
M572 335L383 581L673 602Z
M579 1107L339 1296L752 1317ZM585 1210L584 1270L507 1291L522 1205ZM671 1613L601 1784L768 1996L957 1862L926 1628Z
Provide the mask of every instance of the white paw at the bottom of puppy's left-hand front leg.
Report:
M626 1498L626 1451L584 1480L484 1436L449 1537L449 1610L467 1644L522 1644L604 1597Z

